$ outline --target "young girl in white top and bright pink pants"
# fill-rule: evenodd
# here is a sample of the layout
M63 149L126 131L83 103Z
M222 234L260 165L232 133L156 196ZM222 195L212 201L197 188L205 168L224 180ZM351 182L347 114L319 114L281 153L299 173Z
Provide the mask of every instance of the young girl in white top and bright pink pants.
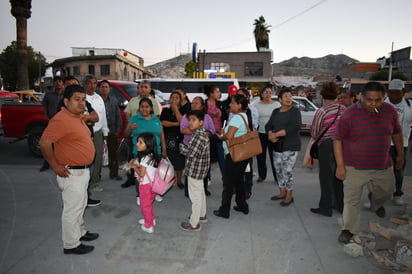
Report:
M140 210L143 218L139 220L142 230L153 233L156 217L153 212L153 200L156 193L152 191L152 182L155 176L160 156L157 153L156 137L149 132L139 135L136 143L138 159L132 159L129 165L136 171L136 180L139 182Z

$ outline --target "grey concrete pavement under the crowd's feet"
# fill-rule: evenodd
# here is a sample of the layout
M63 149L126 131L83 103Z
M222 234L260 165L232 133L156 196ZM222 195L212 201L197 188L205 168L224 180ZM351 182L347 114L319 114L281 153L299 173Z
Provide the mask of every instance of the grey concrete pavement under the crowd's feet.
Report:
M266 180L253 186L249 215L232 210L230 219L222 219L212 213L222 191L213 164L208 223L200 232L179 229L190 215L190 201L174 187L154 204L154 234L142 232L137 223L141 213L134 188L120 188L123 181L109 180L103 168L104 191L93 193L103 203L85 214L86 227L100 238L92 242L92 253L81 256L63 254L62 202L54 173L40 173L38 166L0 165L0 273L386 273L365 257L343 253L337 240L339 214L310 213L319 199L317 169L300 165L294 204L283 208L271 201L277 187ZM408 198L411 181L405 178ZM386 209L386 221L402 211L392 203ZM361 218L360 230L367 229L369 220L383 222L365 210Z

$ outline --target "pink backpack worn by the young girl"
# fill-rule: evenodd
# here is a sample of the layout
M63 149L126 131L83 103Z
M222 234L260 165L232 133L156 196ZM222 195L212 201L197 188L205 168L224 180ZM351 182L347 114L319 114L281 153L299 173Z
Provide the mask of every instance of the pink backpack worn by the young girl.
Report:
M146 174L149 181L152 181L149 174ZM152 181L153 192L163 195L172 187L175 181L175 170L170 160L168 158L160 160L155 171L154 179Z

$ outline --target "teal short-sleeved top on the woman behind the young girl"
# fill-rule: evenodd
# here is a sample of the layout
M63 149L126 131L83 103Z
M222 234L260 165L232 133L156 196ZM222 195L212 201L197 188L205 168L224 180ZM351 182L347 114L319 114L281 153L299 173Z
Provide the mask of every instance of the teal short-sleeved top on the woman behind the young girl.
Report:
M152 117L147 120L142 116L142 114L138 113L129 119L129 123L137 124L137 128L132 131L133 154L137 154L137 138L143 132L150 132L156 137L157 152L161 154L160 134L162 133L162 122L160 122L159 118L152 114Z

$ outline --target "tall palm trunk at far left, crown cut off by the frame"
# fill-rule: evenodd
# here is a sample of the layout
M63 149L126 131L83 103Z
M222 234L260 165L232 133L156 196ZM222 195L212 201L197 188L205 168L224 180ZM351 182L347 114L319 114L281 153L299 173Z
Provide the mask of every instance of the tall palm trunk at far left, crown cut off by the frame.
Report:
M10 0L11 14L16 18L17 90L29 89L27 54L27 19L31 16L31 0Z

